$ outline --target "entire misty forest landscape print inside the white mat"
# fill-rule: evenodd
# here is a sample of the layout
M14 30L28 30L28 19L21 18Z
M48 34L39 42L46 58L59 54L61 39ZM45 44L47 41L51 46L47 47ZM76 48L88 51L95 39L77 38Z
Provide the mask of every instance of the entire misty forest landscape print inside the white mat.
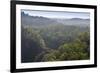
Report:
M89 13L21 11L22 63L89 58Z

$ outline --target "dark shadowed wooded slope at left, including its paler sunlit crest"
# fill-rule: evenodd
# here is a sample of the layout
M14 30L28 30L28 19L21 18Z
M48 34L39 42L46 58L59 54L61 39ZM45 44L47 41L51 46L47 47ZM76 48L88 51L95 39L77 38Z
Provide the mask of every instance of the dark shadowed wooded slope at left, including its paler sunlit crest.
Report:
M22 26L21 33L22 62L33 62L38 54L48 48L39 33L32 28Z

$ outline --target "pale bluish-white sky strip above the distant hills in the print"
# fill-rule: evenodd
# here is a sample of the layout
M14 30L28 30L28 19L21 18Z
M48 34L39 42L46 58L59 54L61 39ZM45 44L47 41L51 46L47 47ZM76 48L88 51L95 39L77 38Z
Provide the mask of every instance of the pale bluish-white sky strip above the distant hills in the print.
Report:
M67 11L39 11L39 10L21 10L31 16L42 16L47 18L82 18L89 19L90 13L88 12L67 12Z

